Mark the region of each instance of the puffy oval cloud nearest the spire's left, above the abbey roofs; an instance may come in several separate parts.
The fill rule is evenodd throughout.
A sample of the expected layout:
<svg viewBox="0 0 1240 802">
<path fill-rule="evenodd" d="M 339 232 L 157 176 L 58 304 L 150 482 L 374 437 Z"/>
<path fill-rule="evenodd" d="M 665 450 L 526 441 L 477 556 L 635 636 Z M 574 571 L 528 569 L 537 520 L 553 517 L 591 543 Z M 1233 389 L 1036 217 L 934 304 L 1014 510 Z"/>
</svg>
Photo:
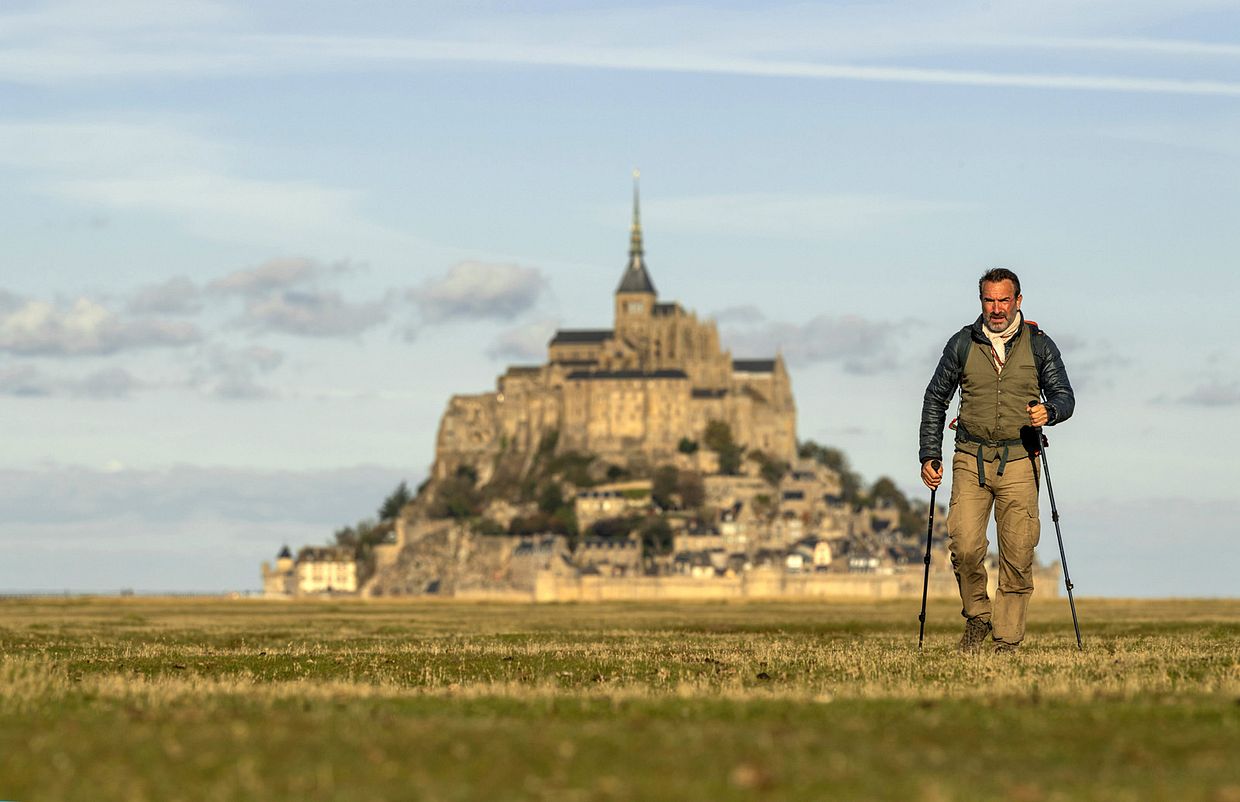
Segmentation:
<svg viewBox="0 0 1240 802">
<path fill-rule="evenodd" d="M 546 279 L 536 268 L 461 262 L 445 275 L 409 290 L 409 297 L 428 322 L 512 320 L 532 309 L 546 286 Z"/>
</svg>

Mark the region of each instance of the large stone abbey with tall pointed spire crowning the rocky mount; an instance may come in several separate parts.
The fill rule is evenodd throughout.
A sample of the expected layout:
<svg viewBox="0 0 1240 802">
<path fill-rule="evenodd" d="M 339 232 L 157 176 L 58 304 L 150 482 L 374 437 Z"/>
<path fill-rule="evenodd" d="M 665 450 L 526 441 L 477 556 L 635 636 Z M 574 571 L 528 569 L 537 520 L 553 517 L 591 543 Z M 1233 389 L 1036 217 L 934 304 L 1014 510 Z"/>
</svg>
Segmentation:
<svg viewBox="0 0 1240 802">
<path fill-rule="evenodd" d="M 510 367 L 491 393 L 455 395 L 439 426 L 434 477 L 469 466 L 480 483 L 520 476 L 539 446 L 590 452 L 618 464 L 683 462 L 682 440 L 707 424 L 789 462 L 796 459 L 796 405 L 780 355 L 735 359 L 714 321 L 660 301 L 646 268 L 634 187 L 629 260 L 611 328 L 560 330 L 547 361 Z M 693 457 L 706 465 L 713 454 Z"/>
</svg>

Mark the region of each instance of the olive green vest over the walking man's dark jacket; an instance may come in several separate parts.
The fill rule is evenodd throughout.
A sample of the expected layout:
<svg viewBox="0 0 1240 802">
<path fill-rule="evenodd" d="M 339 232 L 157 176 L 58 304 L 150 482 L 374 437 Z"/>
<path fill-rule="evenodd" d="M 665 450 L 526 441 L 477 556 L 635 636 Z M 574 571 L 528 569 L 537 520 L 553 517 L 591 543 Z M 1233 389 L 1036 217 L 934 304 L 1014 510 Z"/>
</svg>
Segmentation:
<svg viewBox="0 0 1240 802">
<path fill-rule="evenodd" d="M 1002 373 L 994 369 L 988 342 L 970 343 L 960 377 L 957 451 L 977 454 L 985 444 L 981 459 L 987 461 L 1001 459 L 1006 445 L 1021 452 L 1018 443 L 1021 429 L 1029 425 L 1029 402 L 1040 398 L 1033 331 L 1032 326 L 1022 325 L 1008 342 Z"/>
</svg>

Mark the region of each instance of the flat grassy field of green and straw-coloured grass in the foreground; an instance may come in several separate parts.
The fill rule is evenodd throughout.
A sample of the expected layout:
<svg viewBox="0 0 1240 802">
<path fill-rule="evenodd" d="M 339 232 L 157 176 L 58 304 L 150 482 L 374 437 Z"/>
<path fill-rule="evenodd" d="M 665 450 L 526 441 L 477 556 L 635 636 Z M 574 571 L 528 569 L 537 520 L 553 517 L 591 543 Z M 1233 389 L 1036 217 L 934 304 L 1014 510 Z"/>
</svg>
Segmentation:
<svg viewBox="0 0 1240 802">
<path fill-rule="evenodd" d="M 0 800 L 1240 802 L 1240 600 L 0 600 Z"/>
</svg>

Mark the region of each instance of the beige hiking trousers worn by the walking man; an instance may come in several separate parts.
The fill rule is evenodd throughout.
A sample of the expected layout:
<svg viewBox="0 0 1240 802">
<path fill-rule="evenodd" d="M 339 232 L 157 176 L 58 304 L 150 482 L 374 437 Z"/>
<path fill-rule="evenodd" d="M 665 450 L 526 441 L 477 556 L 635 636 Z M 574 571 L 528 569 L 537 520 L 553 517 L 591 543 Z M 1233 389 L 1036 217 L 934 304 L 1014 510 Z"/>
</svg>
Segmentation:
<svg viewBox="0 0 1240 802">
<path fill-rule="evenodd" d="M 998 475 L 999 462 L 986 462 L 986 485 L 977 485 L 977 459 L 957 451 L 951 459 L 951 507 L 947 511 L 947 544 L 960 584 L 961 614 L 990 620 L 996 641 L 1024 640 L 1024 614 L 1033 593 L 1033 549 L 1042 524 L 1038 521 L 1038 466 L 1021 452 Z M 998 528 L 999 578 L 994 605 L 986 593 L 986 528 L 991 507 Z"/>
</svg>

